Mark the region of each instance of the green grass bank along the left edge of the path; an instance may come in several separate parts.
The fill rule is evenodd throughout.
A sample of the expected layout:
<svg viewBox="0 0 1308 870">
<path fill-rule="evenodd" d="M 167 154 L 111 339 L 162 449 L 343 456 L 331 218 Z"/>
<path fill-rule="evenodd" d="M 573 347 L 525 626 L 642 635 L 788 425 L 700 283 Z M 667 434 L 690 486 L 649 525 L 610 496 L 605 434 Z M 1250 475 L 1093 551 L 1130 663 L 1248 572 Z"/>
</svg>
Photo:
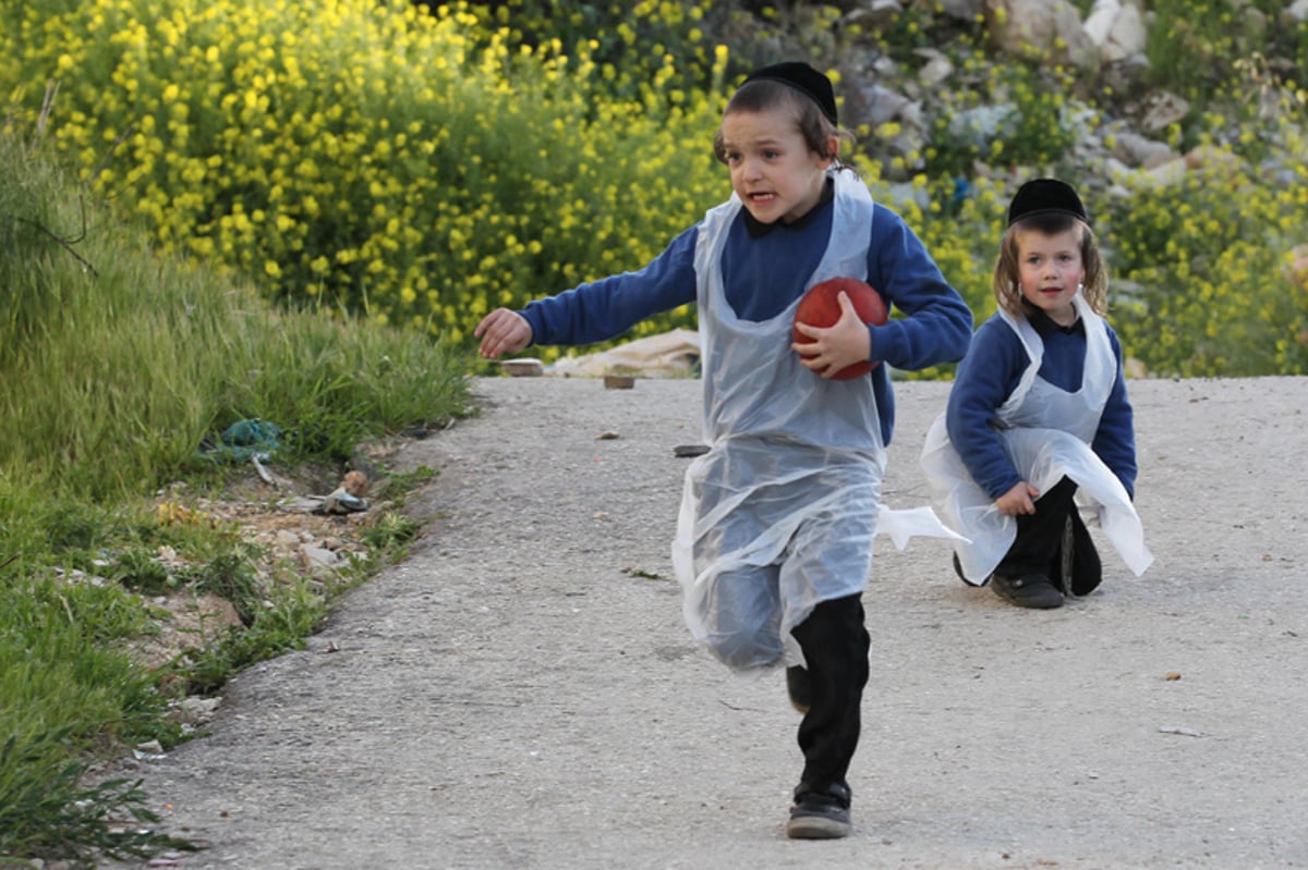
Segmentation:
<svg viewBox="0 0 1308 870">
<path fill-rule="evenodd" d="M 277 422 L 279 466 L 344 469 L 368 439 L 467 413 L 464 372 L 426 336 L 277 310 L 230 270 L 161 255 L 33 131 L 0 125 L 0 863 L 182 848 L 139 784 L 97 765 L 186 739 L 170 701 L 300 644 L 415 530 L 381 512 L 379 558 L 324 581 L 262 570 L 234 524 L 157 494 L 221 491 L 235 469 L 201 444 L 247 419 Z M 157 631 L 150 597 L 177 592 L 226 598 L 241 624 L 148 668 L 132 644 Z"/>
</svg>

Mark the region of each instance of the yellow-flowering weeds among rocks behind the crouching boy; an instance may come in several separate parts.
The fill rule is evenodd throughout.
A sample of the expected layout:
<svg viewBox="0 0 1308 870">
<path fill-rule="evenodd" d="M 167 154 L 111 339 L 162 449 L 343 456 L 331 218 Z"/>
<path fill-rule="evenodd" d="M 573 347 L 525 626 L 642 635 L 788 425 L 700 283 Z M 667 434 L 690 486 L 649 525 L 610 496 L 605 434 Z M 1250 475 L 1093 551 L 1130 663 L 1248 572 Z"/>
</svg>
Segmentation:
<svg viewBox="0 0 1308 870">
<path fill-rule="evenodd" d="M 1080 7 L 1087 13 L 1090 4 Z M 930 145 L 887 163 L 930 202 L 901 210 L 980 323 L 994 311 L 990 273 L 1011 195 L 997 182 L 1065 178 L 1096 216 L 1110 317 L 1133 371 L 1304 374 L 1305 71 L 1273 64 L 1258 50 L 1308 56 L 1308 25 L 1286 26 L 1283 4 L 1264 0 L 1206 0 L 1199 8 L 1169 0 L 1154 4 L 1154 13 L 1155 84 L 1197 101 L 1165 132 L 1194 163 L 1179 180 L 1148 172 L 1108 179 L 1110 185 L 1095 179 L 1075 152 L 1104 111 L 1087 102 L 1092 89 L 1045 57 L 997 63 L 981 48 L 982 31 L 957 22 L 947 42 L 934 43 L 961 74 L 935 95 Z M 912 63 L 923 14 L 914 7 L 895 16 L 887 30 L 895 38 L 883 34 L 878 46 Z M 1099 97 L 1109 102 L 1113 94 L 1104 89 Z M 871 153 L 880 132 L 865 133 Z"/>
</svg>

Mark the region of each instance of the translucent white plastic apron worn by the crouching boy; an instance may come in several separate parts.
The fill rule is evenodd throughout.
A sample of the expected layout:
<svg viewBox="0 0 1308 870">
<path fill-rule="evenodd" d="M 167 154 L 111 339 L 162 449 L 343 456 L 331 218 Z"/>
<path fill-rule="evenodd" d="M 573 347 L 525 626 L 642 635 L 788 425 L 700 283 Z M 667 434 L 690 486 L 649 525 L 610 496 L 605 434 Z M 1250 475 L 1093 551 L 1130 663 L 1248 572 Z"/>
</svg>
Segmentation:
<svg viewBox="0 0 1308 870">
<path fill-rule="evenodd" d="M 1045 492 L 1063 477 L 1076 483 L 1076 502 L 1135 576 L 1144 573 L 1154 556 L 1144 546 L 1144 530 L 1126 487 L 1091 449 L 1099 419 L 1113 388 L 1117 362 L 1104 319 L 1078 293 L 1073 299 L 1086 325 L 1086 364 L 1082 385 L 1074 393 L 1037 376 L 1044 342 L 1025 319 L 999 312 L 1022 340 L 1031 363 L 1018 387 L 998 409 L 999 442 L 1024 481 Z M 968 583 L 982 585 L 1016 538 L 1015 517 L 999 513 L 977 486 L 959 456 L 940 414 L 926 434 L 922 469 L 946 524 L 967 541 L 954 550 Z"/>
</svg>

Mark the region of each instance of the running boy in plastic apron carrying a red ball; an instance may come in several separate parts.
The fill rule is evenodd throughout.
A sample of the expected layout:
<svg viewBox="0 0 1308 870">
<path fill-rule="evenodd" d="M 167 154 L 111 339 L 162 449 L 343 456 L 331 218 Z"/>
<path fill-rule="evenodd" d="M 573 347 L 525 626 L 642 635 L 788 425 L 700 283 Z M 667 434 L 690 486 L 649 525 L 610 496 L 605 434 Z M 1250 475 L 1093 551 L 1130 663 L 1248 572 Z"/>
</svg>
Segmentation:
<svg viewBox="0 0 1308 870">
<path fill-rule="evenodd" d="M 972 332 L 918 238 L 840 165 L 846 136 L 827 76 L 804 63 L 755 71 L 714 138 L 727 202 L 644 269 L 500 308 L 475 330 L 494 358 L 612 338 L 697 303 L 710 449 L 687 469 L 674 542 L 685 619 L 734 670 L 790 666 L 804 765 L 786 831 L 810 839 L 850 831 L 846 772 L 869 673 L 861 598 L 895 419 L 887 368 L 956 361 Z M 869 282 L 904 316 L 869 327 L 842 297 L 836 325 L 803 325 L 811 342 L 793 344 L 799 297 L 837 276 Z M 831 379 L 858 361 L 886 364 Z"/>
</svg>

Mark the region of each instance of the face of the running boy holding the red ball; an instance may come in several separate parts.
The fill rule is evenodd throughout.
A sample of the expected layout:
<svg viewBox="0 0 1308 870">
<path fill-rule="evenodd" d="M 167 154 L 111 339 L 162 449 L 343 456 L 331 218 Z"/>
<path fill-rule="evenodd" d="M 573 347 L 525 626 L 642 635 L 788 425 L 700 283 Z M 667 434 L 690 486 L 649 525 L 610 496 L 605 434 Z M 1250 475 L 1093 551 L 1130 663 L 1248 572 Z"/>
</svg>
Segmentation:
<svg viewBox="0 0 1308 870">
<path fill-rule="evenodd" d="M 800 218 L 821 199 L 832 161 L 808 149 L 791 111 L 731 112 L 722 145 L 731 188 L 760 223 Z"/>
</svg>

